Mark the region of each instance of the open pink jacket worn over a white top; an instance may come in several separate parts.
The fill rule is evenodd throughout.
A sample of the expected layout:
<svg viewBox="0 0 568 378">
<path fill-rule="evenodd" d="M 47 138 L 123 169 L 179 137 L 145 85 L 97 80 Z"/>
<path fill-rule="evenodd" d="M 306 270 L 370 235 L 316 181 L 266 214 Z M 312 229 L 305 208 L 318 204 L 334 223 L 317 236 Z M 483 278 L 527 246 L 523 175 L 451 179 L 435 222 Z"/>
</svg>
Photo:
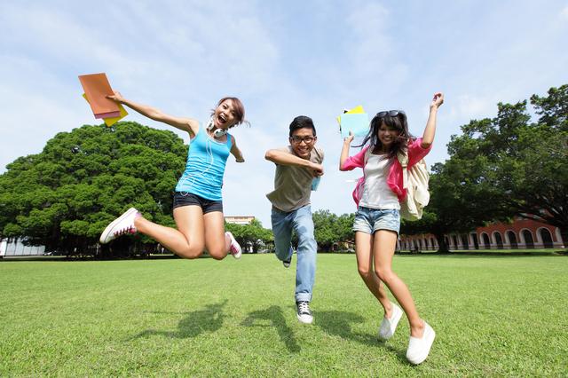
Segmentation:
<svg viewBox="0 0 568 378">
<path fill-rule="evenodd" d="M 347 158 L 346 161 L 343 162 L 342 169 L 345 170 L 352 170 L 354 168 L 363 168 L 365 165 L 365 153 L 369 147 L 363 148 L 359 151 L 358 154 L 350 156 Z M 424 156 L 430 153 L 432 146 L 430 145 L 428 148 L 422 148 L 422 138 L 416 138 L 414 141 L 408 144 L 408 169 L 416 164 L 418 161 L 421 161 Z M 355 191 L 353 191 L 353 200 L 355 203 L 359 204 L 359 198 L 357 195 L 357 191 L 359 185 L 364 182 L 365 177 L 360 177 L 359 181 L 357 182 L 357 186 L 355 187 Z M 406 189 L 402 186 L 402 166 L 400 165 L 400 161 L 395 159 L 392 164 L 390 164 L 389 170 L 389 177 L 387 177 L 387 185 L 389 185 L 392 192 L 397 194 L 398 201 L 404 201 L 406 199 Z"/>
</svg>

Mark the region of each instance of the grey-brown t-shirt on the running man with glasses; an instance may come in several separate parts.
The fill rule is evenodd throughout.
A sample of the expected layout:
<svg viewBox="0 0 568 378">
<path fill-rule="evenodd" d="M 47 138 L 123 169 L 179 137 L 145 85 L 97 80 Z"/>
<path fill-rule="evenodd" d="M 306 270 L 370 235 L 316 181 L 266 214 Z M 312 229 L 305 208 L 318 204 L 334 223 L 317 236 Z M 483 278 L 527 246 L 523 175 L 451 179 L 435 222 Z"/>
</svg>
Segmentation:
<svg viewBox="0 0 568 378">
<path fill-rule="evenodd" d="M 279 148 L 278 151 L 296 155 L 292 146 Z M 323 162 L 323 150 L 318 146 L 314 146 L 310 154 L 310 161 L 321 164 Z M 276 209 L 282 211 L 300 209 L 310 204 L 312 179 L 311 169 L 294 165 L 276 164 L 274 190 L 266 194 L 266 197 Z"/>
</svg>

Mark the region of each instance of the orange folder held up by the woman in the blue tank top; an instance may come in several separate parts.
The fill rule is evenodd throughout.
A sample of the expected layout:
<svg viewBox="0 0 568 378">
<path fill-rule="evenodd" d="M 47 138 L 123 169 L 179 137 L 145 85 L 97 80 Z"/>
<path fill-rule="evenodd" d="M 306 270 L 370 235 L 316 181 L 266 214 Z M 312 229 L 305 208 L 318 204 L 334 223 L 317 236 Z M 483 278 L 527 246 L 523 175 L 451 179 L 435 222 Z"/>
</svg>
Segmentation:
<svg viewBox="0 0 568 378">
<path fill-rule="evenodd" d="M 113 94 L 113 90 L 104 73 L 79 75 L 79 81 L 83 85 L 87 98 L 89 98 L 89 104 L 91 105 L 92 113 L 95 114 L 95 118 L 102 118 L 101 115 L 115 116 L 111 114 L 120 114 L 118 104 L 112 99 L 106 98 L 106 95 Z"/>
</svg>

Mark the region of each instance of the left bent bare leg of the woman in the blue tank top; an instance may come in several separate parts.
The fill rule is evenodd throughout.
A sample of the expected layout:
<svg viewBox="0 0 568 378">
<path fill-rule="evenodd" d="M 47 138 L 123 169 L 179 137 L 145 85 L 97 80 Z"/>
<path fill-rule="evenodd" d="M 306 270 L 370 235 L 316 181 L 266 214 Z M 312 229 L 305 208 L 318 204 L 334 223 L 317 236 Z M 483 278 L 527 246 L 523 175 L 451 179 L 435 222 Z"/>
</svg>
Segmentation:
<svg viewBox="0 0 568 378">
<path fill-rule="evenodd" d="M 138 217 L 134 225 L 138 232 L 144 233 L 170 249 L 177 256 L 195 258 L 203 253 L 203 212 L 199 206 L 182 206 L 174 209 L 175 228 L 150 222 Z"/>
</svg>

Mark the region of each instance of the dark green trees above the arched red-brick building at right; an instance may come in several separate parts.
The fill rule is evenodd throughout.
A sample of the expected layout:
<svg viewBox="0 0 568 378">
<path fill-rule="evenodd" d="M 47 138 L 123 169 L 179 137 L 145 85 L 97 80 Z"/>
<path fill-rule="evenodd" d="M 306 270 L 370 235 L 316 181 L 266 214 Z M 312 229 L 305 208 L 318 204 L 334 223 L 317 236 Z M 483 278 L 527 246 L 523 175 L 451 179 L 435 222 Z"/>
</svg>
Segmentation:
<svg viewBox="0 0 568 378">
<path fill-rule="evenodd" d="M 450 159 L 432 168 L 430 216 L 403 232 L 467 232 L 521 216 L 556 225 L 568 240 L 568 85 L 527 102 L 498 104 L 493 119 L 474 120 L 448 144 Z"/>
</svg>

